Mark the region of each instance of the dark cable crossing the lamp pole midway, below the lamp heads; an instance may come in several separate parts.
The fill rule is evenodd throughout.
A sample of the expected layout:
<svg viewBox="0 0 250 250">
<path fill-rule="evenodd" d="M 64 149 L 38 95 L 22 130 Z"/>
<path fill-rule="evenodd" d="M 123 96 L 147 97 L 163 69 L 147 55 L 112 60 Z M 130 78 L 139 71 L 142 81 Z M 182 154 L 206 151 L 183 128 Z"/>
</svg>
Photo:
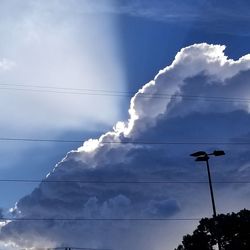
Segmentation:
<svg viewBox="0 0 250 250">
<path fill-rule="evenodd" d="M 82 184 L 207 184 L 208 181 L 91 181 L 91 180 L 32 180 L 32 179 L 0 179 L 0 182 L 23 183 L 82 183 Z M 250 181 L 213 181 L 213 184 L 250 184 Z"/>
</svg>

